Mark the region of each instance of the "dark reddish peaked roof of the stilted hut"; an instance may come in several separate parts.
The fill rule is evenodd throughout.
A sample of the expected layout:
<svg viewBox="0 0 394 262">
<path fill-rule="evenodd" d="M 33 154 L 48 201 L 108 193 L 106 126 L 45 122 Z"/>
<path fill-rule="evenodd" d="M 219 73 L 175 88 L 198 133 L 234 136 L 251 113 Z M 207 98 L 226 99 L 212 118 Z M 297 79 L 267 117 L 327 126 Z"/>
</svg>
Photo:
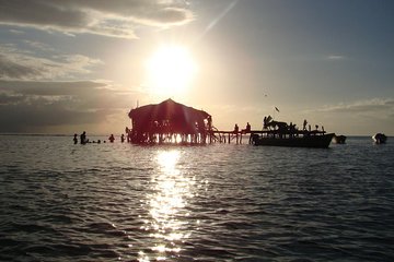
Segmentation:
<svg viewBox="0 0 394 262">
<path fill-rule="evenodd" d="M 204 121 L 204 119 L 210 117 L 210 115 L 204 110 L 197 110 L 193 107 L 185 106 L 171 98 L 160 104 L 152 104 L 131 109 L 128 116 L 136 122 L 161 122 L 169 120 L 186 123 Z"/>
</svg>

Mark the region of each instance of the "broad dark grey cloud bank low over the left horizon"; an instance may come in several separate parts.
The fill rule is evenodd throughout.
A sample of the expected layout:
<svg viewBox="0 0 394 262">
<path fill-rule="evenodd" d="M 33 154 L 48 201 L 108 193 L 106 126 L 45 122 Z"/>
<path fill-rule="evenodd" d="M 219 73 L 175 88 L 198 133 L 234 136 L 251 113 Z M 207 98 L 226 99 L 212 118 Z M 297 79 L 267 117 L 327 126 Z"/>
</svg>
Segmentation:
<svg viewBox="0 0 394 262">
<path fill-rule="evenodd" d="M 134 96 L 102 82 L 0 81 L 0 132 L 100 124 L 113 116 L 127 122 Z"/>
</svg>

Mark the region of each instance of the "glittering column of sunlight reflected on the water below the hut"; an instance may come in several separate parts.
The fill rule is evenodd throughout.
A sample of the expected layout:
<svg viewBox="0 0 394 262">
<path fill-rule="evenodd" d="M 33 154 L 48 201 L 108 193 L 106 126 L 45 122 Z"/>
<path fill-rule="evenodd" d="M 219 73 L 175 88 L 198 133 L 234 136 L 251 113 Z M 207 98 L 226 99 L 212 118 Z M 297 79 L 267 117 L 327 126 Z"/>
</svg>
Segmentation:
<svg viewBox="0 0 394 262">
<path fill-rule="evenodd" d="M 152 257 L 140 252 L 139 261 L 166 260 L 176 257 L 182 242 L 189 237 L 187 200 L 193 198 L 195 181 L 179 169 L 181 152 L 160 151 L 158 172 L 152 177 L 152 192 L 148 195 L 149 217 L 143 229 L 152 238 Z"/>
</svg>

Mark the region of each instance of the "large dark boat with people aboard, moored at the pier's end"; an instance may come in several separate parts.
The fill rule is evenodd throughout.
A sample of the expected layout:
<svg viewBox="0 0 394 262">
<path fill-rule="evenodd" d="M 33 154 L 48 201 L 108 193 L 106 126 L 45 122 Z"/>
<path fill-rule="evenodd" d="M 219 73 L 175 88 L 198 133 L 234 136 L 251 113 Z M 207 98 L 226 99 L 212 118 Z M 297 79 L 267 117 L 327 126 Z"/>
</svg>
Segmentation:
<svg viewBox="0 0 394 262">
<path fill-rule="evenodd" d="M 303 130 L 298 130 L 296 124 L 274 121 L 269 116 L 264 118 L 263 131 L 252 131 L 250 143 L 254 145 L 291 146 L 327 148 L 335 133 L 323 130 L 306 130 L 306 120 Z"/>
</svg>

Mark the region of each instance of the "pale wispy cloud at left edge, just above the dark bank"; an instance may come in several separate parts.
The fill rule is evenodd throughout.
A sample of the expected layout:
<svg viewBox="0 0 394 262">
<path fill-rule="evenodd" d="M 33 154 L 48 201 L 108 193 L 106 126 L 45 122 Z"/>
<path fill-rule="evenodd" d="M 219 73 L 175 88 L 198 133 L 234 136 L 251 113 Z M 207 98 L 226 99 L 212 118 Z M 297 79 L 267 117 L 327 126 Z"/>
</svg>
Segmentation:
<svg viewBox="0 0 394 262">
<path fill-rule="evenodd" d="M 44 48 L 38 43 L 28 43 Z M 54 55 L 36 57 L 13 46 L 0 46 L 1 80 L 53 80 L 90 73 L 90 68 L 102 64 L 99 59 L 82 55 Z"/>
</svg>

